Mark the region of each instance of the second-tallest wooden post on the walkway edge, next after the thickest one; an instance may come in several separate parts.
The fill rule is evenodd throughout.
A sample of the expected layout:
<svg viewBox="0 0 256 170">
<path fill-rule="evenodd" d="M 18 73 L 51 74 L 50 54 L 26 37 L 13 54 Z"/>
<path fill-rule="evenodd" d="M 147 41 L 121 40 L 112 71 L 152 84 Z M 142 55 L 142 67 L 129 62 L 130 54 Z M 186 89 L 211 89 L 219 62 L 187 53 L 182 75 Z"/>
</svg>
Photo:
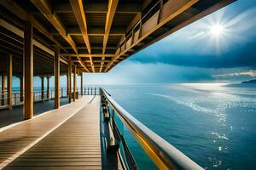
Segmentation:
<svg viewBox="0 0 256 170">
<path fill-rule="evenodd" d="M 55 48 L 55 109 L 60 108 L 60 48 Z"/>
</svg>

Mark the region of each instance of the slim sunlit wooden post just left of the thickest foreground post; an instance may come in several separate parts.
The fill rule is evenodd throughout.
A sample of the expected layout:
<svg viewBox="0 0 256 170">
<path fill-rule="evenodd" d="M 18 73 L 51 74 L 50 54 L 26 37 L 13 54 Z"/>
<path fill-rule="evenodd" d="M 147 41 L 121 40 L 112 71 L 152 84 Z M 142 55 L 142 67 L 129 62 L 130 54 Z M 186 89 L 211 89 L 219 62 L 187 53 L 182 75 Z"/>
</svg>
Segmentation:
<svg viewBox="0 0 256 170">
<path fill-rule="evenodd" d="M 13 55 L 9 54 L 9 67 L 8 67 L 8 105 L 9 110 L 13 107 Z"/>
</svg>

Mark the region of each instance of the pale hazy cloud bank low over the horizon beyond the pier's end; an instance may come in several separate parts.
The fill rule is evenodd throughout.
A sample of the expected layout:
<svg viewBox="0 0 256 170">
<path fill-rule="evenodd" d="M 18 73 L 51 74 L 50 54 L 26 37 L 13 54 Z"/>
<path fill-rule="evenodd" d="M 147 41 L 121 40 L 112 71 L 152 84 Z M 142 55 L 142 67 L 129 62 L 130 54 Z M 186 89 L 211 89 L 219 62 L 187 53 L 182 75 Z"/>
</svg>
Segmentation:
<svg viewBox="0 0 256 170">
<path fill-rule="evenodd" d="M 127 84 L 209 82 L 214 81 L 214 77 L 202 68 L 125 61 L 108 73 L 84 74 L 84 80 L 90 84 Z"/>
</svg>

